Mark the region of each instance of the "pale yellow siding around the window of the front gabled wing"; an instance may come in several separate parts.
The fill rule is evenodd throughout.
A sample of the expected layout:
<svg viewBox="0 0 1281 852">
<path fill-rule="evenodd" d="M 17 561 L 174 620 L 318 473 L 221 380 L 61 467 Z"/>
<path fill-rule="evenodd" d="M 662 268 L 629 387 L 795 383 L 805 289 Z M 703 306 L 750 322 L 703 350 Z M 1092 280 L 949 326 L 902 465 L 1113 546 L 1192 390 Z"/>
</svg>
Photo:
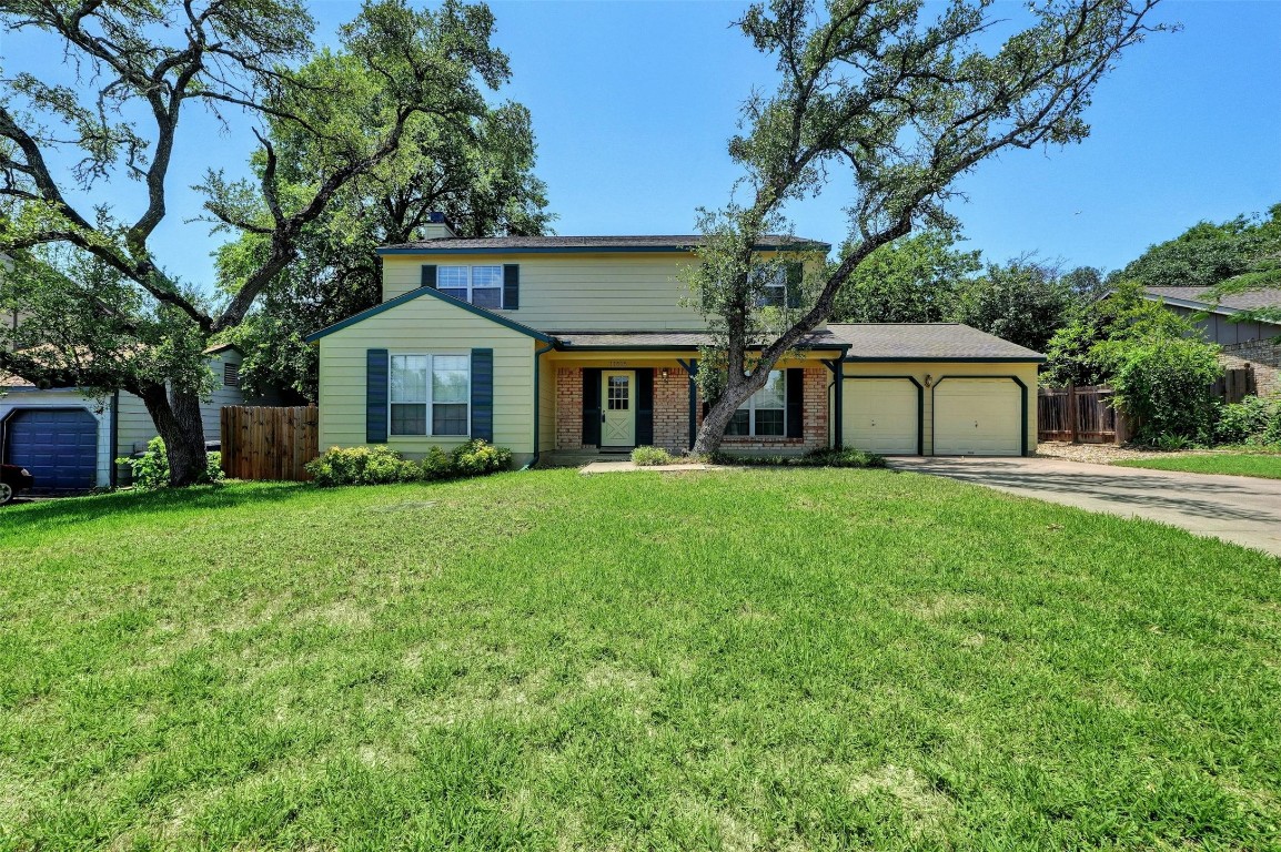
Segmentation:
<svg viewBox="0 0 1281 852">
<path fill-rule="evenodd" d="M 518 463 L 533 454 L 534 347 L 520 333 L 456 304 L 423 296 L 320 339 L 320 446 L 365 443 L 365 357 L 368 349 L 397 353 L 470 354 L 493 349 L 493 440 Z M 462 438 L 392 436 L 388 446 L 410 458 L 430 446 L 446 449 Z"/>
</svg>

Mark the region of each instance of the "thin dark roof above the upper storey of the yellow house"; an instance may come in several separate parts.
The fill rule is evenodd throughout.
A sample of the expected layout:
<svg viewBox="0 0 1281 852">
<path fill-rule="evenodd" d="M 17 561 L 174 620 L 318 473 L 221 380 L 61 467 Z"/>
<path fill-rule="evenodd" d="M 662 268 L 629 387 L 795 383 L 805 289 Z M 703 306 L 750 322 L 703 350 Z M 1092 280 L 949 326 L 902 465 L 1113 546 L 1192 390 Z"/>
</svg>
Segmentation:
<svg viewBox="0 0 1281 852">
<path fill-rule="evenodd" d="M 441 237 L 412 243 L 383 246 L 379 255 L 556 255 L 615 252 L 684 252 L 703 243 L 701 234 L 619 235 L 619 237 Z M 758 251 L 822 251 L 831 246 L 817 239 L 769 234 L 757 243 Z"/>
</svg>

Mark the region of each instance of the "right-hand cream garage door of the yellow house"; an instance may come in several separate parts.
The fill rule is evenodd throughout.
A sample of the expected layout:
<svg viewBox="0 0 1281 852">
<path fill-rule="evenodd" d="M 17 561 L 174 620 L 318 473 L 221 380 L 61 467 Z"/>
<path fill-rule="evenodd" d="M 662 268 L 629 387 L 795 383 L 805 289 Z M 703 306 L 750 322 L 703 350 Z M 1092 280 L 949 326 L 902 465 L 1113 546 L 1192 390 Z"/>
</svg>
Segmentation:
<svg viewBox="0 0 1281 852">
<path fill-rule="evenodd" d="M 934 386 L 935 455 L 1021 455 L 1022 389 L 1009 379 L 944 379 Z"/>
</svg>

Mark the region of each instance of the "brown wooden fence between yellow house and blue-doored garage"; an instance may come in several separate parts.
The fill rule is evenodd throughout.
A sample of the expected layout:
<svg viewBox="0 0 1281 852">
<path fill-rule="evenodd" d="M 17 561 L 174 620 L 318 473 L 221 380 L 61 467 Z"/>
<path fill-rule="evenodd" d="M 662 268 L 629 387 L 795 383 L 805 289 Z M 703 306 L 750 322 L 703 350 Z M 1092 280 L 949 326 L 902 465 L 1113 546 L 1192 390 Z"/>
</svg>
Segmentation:
<svg viewBox="0 0 1281 852">
<path fill-rule="evenodd" d="M 224 406 L 223 473 L 236 480 L 310 480 L 302 467 L 320 454 L 315 406 Z"/>
</svg>

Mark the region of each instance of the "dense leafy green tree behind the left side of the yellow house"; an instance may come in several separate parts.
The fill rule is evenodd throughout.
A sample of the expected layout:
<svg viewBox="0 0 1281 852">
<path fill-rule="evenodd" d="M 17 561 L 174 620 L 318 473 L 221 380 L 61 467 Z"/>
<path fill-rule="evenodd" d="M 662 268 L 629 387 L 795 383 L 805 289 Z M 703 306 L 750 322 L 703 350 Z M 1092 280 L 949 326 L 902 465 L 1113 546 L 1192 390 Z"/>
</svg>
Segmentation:
<svg viewBox="0 0 1281 852">
<path fill-rule="evenodd" d="M 302 69 L 328 65 L 324 55 Z M 365 72 L 343 63 L 343 74 Z M 369 102 L 388 97 L 384 81 L 368 75 Z M 365 118 L 378 127 L 379 118 Z M 305 187 L 325 169 L 327 151 L 288 122 L 268 116 L 278 179 Z M 241 381 L 249 390 L 292 388 L 316 398 L 316 353 L 304 338 L 382 301 L 375 249 L 424 237 L 428 215 L 443 212 L 465 237 L 542 234 L 546 185 L 534 175 L 535 141 L 529 110 L 505 102 L 474 116 L 420 114 L 405 127 L 395 155 L 347 183 L 296 242 L 297 258 L 264 292 L 257 308 L 231 338 L 245 353 Z M 263 164 L 255 164 L 261 169 Z M 219 285 L 234 293 L 263 262 L 268 241 L 245 233 L 218 253 Z"/>
</svg>

